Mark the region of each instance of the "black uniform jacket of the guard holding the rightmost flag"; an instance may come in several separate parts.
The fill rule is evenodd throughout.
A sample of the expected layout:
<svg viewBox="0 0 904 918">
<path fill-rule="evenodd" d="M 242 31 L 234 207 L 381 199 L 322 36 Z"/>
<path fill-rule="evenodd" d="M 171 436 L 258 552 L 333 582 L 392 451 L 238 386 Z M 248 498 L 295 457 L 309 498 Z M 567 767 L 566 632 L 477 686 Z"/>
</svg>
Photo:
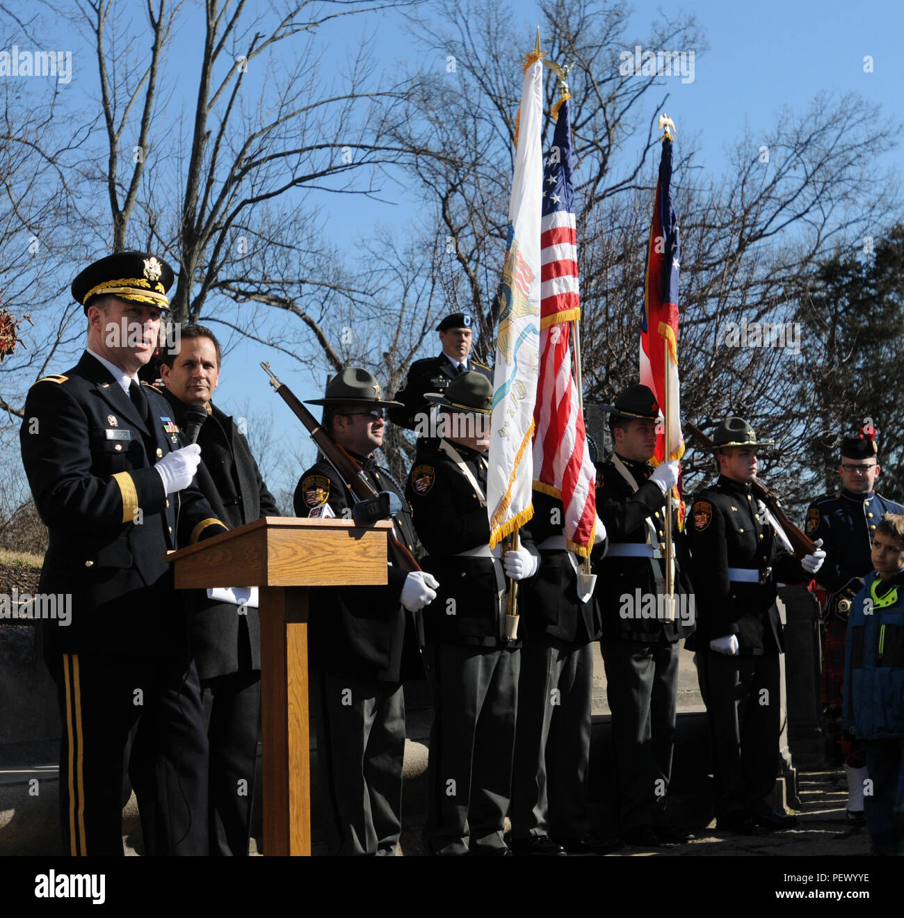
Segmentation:
<svg viewBox="0 0 904 918">
<path fill-rule="evenodd" d="M 597 515 L 606 526 L 609 552 L 618 552 L 617 545 L 649 545 L 656 555 L 664 552 L 665 495 L 653 481 L 648 481 L 653 472 L 649 463 L 619 461 L 634 479 L 637 490 L 619 472 L 612 459 L 597 464 Z M 684 533 L 678 532 L 677 514 L 672 517 L 672 537 L 675 546 L 675 596 L 692 594 L 690 578 L 690 554 Z M 686 637 L 694 631 L 692 621 L 682 620 L 675 614 L 675 621 L 660 621 L 655 618 L 622 617 L 623 597 L 631 597 L 631 609 L 636 605 L 636 590 L 641 596 L 657 596 L 662 593 L 665 571 L 661 557 L 632 557 L 631 555 L 607 554 L 597 549 L 593 557 L 597 574 L 597 599 L 602 610 L 604 641 L 640 641 L 653 644 L 658 641 L 669 643 Z M 655 565 L 655 568 L 653 567 Z M 660 581 L 657 586 L 657 580 Z M 676 599 L 676 605 L 681 600 Z M 657 604 L 657 612 L 659 605 Z"/>
</svg>

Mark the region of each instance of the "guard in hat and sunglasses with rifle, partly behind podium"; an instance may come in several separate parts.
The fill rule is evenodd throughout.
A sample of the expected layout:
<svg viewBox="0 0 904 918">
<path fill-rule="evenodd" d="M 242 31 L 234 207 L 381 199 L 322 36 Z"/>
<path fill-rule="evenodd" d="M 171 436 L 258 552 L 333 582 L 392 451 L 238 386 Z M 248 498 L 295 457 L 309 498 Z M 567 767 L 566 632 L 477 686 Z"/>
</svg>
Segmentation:
<svg viewBox="0 0 904 918">
<path fill-rule="evenodd" d="M 350 366 L 329 380 L 326 397 L 307 404 L 324 406 L 324 430 L 361 465 L 374 490 L 393 496 L 396 533 L 410 551 L 414 530 L 402 488 L 374 461 L 383 444 L 383 413 L 396 403 L 384 399 L 374 376 Z M 325 458 L 307 469 L 296 487 L 299 517 L 351 520 L 354 502 Z M 385 587 L 310 592 L 311 710 L 333 855 L 395 855 L 401 832 L 402 680 L 423 676 L 406 610 L 418 611 L 434 599 L 437 583 L 422 571 L 406 575 L 393 565 L 387 577 Z"/>
</svg>

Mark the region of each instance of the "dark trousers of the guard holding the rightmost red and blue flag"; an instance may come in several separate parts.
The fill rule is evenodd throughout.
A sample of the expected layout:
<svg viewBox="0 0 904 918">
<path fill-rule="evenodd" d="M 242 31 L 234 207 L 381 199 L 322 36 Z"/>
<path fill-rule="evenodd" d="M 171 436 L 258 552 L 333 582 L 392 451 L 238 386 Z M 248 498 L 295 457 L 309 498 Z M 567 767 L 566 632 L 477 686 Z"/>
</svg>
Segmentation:
<svg viewBox="0 0 904 918">
<path fill-rule="evenodd" d="M 602 641 L 619 826 L 652 826 L 672 778 L 678 643 Z"/>
</svg>

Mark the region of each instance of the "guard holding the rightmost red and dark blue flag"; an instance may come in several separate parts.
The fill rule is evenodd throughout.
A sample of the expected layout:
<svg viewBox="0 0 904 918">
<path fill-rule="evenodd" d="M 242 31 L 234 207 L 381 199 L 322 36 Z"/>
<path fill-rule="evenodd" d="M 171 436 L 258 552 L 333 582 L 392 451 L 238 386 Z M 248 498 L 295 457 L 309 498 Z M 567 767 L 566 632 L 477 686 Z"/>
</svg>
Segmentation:
<svg viewBox="0 0 904 918">
<path fill-rule="evenodd" d="M 597 513 L 609 545 L 596 568 L 619 834 L 629 845 L 680 844 L 693 836 L 666 820 L 664 798 L 675 749 L 679 641 L 694 631 L 690 559 L 675 510 L 674 610 L 663 600 L 666 494 L 677 484 L 678 464 L 650 465 L 661 413 L 647 386 L 631 386 L 605 408 L 613 453 L 597 465 Z"/>
</svg>

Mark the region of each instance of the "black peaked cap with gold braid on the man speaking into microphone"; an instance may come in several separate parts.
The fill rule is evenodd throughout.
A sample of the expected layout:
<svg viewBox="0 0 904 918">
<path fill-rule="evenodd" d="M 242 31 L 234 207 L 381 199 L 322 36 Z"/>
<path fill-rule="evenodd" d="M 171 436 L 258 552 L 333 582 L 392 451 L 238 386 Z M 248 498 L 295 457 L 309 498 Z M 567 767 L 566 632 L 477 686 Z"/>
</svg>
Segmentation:
<svg viewBox="0 0 904 918">
<path fill-rule="evenodd" d="M 73 280 L 73 299 L 88 307 L 98 297 L 116 297 L 169 309 L 166 291 L 173 286 L 173 269 L 150 252 L 115 252 L 89 264 Z"/>
</svg>

